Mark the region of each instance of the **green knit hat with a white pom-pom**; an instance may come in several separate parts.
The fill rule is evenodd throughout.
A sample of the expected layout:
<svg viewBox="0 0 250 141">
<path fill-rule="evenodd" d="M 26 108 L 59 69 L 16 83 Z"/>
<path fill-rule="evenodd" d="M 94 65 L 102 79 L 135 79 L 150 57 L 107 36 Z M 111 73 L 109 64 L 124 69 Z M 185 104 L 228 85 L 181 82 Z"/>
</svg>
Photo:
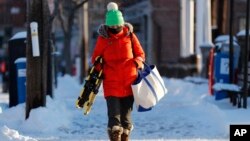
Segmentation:
<svg viewBox="0 0 250 141">
<path fill-rule="evenodd" d="M 110 2 L 107 5 L 106 21 L 107 26 L 123 25 L 124 19 L 122 12 L 118 10 L 118 6 L 114 2 Z"/>
</svg>

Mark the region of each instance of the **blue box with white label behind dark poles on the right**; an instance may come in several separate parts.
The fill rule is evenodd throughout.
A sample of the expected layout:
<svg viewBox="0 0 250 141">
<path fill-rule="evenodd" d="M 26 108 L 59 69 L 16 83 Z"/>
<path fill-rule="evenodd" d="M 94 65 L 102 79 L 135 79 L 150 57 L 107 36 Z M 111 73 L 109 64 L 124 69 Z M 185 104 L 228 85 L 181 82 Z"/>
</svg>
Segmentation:
<svg viewBox="0 0 250 141">
<path fill-rule="evenodd" d="M 217 43 L 215 45 L 214 55 L 214 80 L 215 83 L 230 83 L 229 76 L 229 42 Z M 240 54 L 240 46 L 237 42 L 233 43 L 234 58 L 233 58 L 233 74 L 235 75 L 238 68 L 238 60 Z M 226 91 L 214 91 L 215 99 L 221 100 L 228 97 Z"/>
</svg>

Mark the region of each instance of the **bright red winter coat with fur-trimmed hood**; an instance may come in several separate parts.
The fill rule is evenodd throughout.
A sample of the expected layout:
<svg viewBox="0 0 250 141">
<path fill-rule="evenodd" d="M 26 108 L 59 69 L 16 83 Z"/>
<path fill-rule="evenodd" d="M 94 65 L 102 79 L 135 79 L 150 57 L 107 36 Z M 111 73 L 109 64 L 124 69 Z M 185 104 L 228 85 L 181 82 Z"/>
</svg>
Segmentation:
<svg viewBox="0 0 250 141">
<path fill-rule="evenodd" d="M 137 69 L 145 60 L 144 51 L 133 27 L 125 23 L 118 34 L 108 32 L 105 25 L 98 29 L 99 37 L 92 55 L 92 63 L 97 56 L 102 56 L 104 96 L 126 97 L 132 95 L 131 84 L 137 77 Z M 133 49 L 131 37 L 133 40 Z"/>
</svg>

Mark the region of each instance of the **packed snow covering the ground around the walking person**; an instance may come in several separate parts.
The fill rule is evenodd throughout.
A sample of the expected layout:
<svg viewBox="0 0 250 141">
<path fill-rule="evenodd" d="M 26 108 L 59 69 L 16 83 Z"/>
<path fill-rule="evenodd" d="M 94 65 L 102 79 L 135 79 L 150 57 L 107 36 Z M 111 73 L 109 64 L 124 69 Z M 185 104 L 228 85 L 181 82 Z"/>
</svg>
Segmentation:
<svg viewBox="0 0 250 141">
<path fill-rule="evenodd" d="M 231 124 L 250 124 L 250 109 L 233 106 L 229 99 L 215 100 L 208 94 L 206 79 L 164 77 L 164 81 L 168 93 L 151 111 L 134 108 L 131 140 L 227 141 Z M 46 107 L 33 109 L 27 120 L 24 103 L 9 108 L 8 94 L 0 94 L 0 140 L 108 140 L 102 88 L 86 116 L 75 107 L 81 87 L 75 77 L 59 77 L 54 97 L 47 96 Z"/>
</svg>

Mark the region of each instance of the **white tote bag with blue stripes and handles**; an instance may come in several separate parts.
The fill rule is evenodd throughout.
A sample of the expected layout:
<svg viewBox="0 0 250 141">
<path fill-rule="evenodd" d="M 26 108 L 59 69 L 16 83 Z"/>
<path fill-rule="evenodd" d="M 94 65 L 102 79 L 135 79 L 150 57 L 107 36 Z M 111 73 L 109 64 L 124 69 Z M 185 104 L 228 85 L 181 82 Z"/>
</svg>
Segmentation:
<svg viewBox="0 0 250 141">
<path fill-rule="evenodd" d="M 138 77 L 132 84 L 137 111 L 149 111 L 167 93 L 167 88 L 155 65 L 147 65 L 138 71 Z"/>
</svg>

